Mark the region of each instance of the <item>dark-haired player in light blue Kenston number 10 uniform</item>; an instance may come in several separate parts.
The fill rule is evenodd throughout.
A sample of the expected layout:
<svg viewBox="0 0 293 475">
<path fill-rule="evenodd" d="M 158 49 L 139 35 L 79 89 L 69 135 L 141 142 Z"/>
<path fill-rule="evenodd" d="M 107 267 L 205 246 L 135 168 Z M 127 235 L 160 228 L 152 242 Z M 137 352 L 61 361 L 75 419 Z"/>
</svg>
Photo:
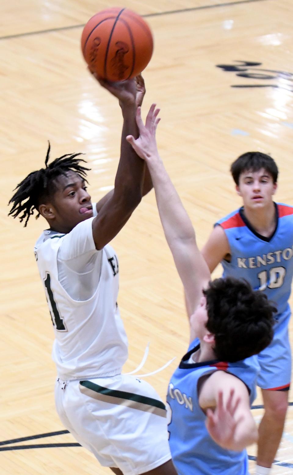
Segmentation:
<svg viewBox="0 0 293 475">
<path fill-rule="evenodd" d="M 243 207 L 217 221 L 202 250 L 210 272 L 221 262 L 223 277 L 246 279 L 276 304 L 273 342 L 258 355 L 265 415 L 259 426 L 256 473 L 269 473 L 288 405 L 291 349 L 288 299 L 293 278 L 293 207 L 274 203 L 278 169 L 261 152 L 248 152 L 231 172 Z M 263 468 L 267 470 L 264 471 Z"/>
</svg>

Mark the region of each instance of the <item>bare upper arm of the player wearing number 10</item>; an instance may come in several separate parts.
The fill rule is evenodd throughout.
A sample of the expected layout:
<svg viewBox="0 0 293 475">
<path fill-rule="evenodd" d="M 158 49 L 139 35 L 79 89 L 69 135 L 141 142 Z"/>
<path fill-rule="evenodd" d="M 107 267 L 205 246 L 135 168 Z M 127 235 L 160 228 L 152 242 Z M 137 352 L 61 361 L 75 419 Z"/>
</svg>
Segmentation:
<svg viewBox="0 0 293 475">
<path fill-rule="evenodd" d="M 204 247 L 201 250 L 203 257 L 210 273 L 212 273 L 217 265 L 230 254 L 230 246 L 224 229 L 221 226 L 216 226 Z"/>
</svg>

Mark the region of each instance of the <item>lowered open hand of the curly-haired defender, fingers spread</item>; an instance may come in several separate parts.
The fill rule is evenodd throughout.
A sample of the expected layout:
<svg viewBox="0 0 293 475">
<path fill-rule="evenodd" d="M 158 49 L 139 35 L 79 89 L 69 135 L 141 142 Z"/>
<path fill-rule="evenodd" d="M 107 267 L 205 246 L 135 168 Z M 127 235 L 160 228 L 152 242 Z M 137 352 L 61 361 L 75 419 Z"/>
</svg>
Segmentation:
<svg viewBox="0 0 293 475">
<path fill-rule="evenodd" d="M 207 410 L 206 426 L 209 435 L 220 447 L 226 449 L 233 447 L 236 428 L 243 419 L 242 416 L 238 419 L 235 417 L 239 402 L 240 398 L 235 400 L 234 389 L 232 389 L 225 406 L 223 404 L 223 392 L 219 391 L 215 411 Z"/>
</svg>

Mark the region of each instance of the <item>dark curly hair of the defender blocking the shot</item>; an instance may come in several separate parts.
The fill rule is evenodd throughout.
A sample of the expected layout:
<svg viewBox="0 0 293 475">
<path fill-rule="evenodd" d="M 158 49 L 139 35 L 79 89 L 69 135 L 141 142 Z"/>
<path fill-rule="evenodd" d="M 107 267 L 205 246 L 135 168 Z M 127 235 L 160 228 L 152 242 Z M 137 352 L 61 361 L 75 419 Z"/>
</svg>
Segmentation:
<svg viewBox="0 0 293 475">
<path fill-rule="evenodd" d="M 215 335 L 217 359 L 244 360 L 264 350 L 272 341 L 273 314 L 277 309 L 246 280 L 215 279 L 203 293 L 207 299 L 206 327 Z"/>
</svg>

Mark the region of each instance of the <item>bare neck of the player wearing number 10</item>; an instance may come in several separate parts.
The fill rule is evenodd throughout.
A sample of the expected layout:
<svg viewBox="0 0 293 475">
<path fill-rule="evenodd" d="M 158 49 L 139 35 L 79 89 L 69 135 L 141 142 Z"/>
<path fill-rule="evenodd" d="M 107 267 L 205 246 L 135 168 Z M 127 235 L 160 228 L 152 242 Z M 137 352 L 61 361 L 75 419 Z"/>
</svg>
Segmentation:
<svg viewBox="0 0 293 475">
<path fill-rule="evenodd" d="M 261 209 L 244 207 L 244 215 L 252 228 L 261 236 L 270 237 L 273 234 L 276 226 L 274 201 Z"/>
</svg>

